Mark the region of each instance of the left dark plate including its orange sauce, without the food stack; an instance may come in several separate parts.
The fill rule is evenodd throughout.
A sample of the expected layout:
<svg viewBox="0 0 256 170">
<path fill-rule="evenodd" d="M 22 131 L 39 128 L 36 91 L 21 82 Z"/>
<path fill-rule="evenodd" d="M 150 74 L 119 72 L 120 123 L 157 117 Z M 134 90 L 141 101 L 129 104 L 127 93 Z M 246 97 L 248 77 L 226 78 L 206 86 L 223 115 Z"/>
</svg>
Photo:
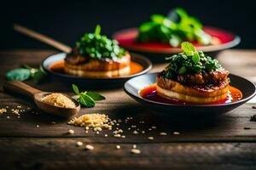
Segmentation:
<svg viewBox="0 0 256 170">
<path fill-rule="evenodd" d="M 122 86 L 131 77 L 143 75 L 151 70 L 149 59 L 139 54 L 131 53 L 131 73 L 121 77 L 78 77 L 69 75 L 64 71 L 66 53 L 53 54 L 44 59 L 42 66 L 49 76 L 65 83 L 76 83 L 81 87 L 112 88 Z"/>
</svg>

